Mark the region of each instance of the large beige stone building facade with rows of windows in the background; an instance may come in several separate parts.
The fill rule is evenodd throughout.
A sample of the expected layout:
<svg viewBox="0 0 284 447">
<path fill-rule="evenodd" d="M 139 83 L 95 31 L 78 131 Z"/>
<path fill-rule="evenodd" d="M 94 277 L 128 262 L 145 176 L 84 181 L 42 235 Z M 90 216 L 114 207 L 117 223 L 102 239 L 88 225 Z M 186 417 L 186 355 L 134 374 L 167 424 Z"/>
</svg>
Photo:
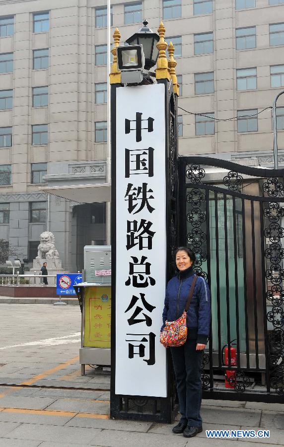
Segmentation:
<svg viewBox="0 0 284 447">
<path fill-rule="evenodd" d="M 146 18 L 152 30 L 163 20 L 175 46 L 179 153 L 272 166 L 284 0 L 111 3 L 122 44 Z M 106 243 L 106 25 L 105 0 L 0 0 L 0 239 L 29 262 L 47 229 L 69 271 L 82 268 L 84 245 Z M 278 106 L 282 166 L 284 99 Z M 71 187 L 69 200 L 48 185 Z M 96 185 L 91 200 L 72 194 L 82 185 Z"/>
</svg>

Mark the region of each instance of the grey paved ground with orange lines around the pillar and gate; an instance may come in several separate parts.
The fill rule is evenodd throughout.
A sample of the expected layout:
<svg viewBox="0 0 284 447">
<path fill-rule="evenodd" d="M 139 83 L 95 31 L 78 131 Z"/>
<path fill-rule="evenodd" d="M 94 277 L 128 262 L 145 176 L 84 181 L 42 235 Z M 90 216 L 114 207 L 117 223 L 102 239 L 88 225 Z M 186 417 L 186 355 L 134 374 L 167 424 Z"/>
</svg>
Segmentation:
<svg viewBox="0 0 284 447">
<path fill-rule="evenodd" d="M 0 447 L 284 445 L 281 404 L 204 400 L 204 430 L 191 440 L 171 433 L 176 421 L 110 420 L 109 373 L 88 367 L 80 376 L 78 307 L 0 304 L 0 321 Z M 220 429 L 270 438 L 206 437 Z"/>
</svg>

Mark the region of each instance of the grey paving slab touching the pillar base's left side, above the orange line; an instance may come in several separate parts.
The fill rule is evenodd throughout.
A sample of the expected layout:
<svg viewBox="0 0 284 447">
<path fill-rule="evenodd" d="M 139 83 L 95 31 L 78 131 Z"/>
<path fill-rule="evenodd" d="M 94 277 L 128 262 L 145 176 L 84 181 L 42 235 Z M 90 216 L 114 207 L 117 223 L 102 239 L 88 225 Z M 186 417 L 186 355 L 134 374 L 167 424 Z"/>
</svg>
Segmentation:
<svg viewBox="0 0 284 447">
<path fill-rule="evenodd" d="M 58 399 L 49 410 L 74 411 L 79 413 L 109 414 L 110 404 L 87 399 Z"/>
</svg>

